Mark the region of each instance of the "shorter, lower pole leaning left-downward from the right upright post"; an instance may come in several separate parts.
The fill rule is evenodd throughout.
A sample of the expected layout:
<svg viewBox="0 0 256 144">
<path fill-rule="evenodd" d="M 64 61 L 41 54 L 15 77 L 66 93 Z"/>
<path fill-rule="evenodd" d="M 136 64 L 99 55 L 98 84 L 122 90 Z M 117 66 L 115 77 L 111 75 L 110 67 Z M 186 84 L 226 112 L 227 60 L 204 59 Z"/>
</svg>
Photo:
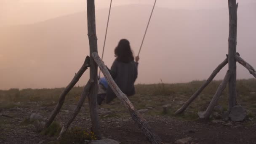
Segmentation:
<svg viewBox="0 0 256 144">
<path fill-rule="evenodd" d="M 201 113 L 203 115 L 199 115 L 200 118 L 204 118 L 204 119 L 208 119 L 211 115 L 211 113 L 213 112 L 214 106 L 216 106 L 219 97 L 221 96 L 221 93 L 224 91 L 224 89 L 226 88 L 227 83 L 229 82 L 229 78 L 230 78 L 230 72 L 229 70 L 227 70 L 227 73 L 224 77 L 224 80 L 222 80 L 221 84 L 219 85 L 216 93 L 213 96 L 213 99 L 211 100 L 209 106 L 207 107 L 207 109 L 205 110 L 205 112 Z"/>
</svg>

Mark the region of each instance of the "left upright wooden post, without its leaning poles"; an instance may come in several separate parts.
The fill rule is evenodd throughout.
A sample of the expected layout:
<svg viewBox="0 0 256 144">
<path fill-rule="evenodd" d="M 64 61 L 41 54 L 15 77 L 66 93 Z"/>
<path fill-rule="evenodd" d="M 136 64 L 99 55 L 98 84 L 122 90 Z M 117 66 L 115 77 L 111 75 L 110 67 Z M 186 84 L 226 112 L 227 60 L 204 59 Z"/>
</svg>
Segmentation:
<svg viewBox="0 0 256 144">
<path fill-rule="evenodd" d="M 98 93 L 98 67 L 91 54 L 98 52 L 97 36 L 96 36 L 96 22 L 95 22 L 95 4 L 94 0 L 87 0 L 87 24 L 88 24 L 88 39 L 90 45 L 90 79 L 93 80 L 91 85 L 90 94 L 88 96 L 92 131 L 97 136 L 97 139 L 101 139 L 100 123 L 97 108 L 97 93 Z"/>
</svg>

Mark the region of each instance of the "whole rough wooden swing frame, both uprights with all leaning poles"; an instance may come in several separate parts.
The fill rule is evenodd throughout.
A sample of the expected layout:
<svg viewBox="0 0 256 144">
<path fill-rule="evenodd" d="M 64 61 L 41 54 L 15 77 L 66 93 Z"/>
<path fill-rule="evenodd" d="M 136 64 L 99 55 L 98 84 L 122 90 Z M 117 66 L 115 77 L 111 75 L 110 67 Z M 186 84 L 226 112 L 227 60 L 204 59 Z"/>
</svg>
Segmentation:
<svg viewBox="0 0 256 144">
<path fill-rule="evenodd" d="M 176 111 L 176 114 L 181 114 L 184 110 L 189 106 L 189 104 L 194 101 L 197 96 L 203 91 L 203 89 L 211 83 L 213 78 L 218 74 L 218 72 L 226 65 L 229 65 L 229 70 L 224 77 L 224 80 L 219 85 L 215 95 L 211 103 L 209 104 L 208 108 L 205 112 L 199 113 L 200 118 L 207 119 L 212 111 L 214 106 L 217 104 L 219 96 L 221 95 L 222 91 L 226 87 L 227 83 L 229 83 L 229 112 L 231 111 L 232 107 L 236 104 L 236 61 L 242 64 L 245 68 L 249 70 L 249 72 L 256 77 L 255 69 L 248 64 L 245 60 L 243 60 L 239 53 L 236 53 L 236 44 L 237 44 L 237 7 L 238 3 L 236 0 L 228 0 L 229 5 L 229 53 L 227 58 L 219 64 L 219 66 L 212 72 L 210 77 L 203 83 L 203 85 L 191 96 L 191 98 L 180 108 Z M 97 83 L 97 66 L 101 69 L 102 73 L 107 79 L 109 86 L 112 88 L 114 93 L 116 94 L 117 98 L 122 101 L 125 107 L 131 114 L 132 119 L 136 122 L 138 127 L 141 131 L 145 134 L 148 140 L 152 144 L 164 144 L 164 142 L 160 139 L 157 134 L 152 130 L 149 126 L 147 121 L 137 112 L 131 101 L 128 97 L 118 88 L 115 81 L 112 79 L 107 67 L 104 65 L 104 62 L 100 59 L 97 51 L 97 36 L 96 36 L 96 21 L 95 21 L 95 5 L 94 0 L 87 0 L 87 20 L 88 20 L 88 39 L 90 45 L 90 57 L 87 56 L 85 59 L 84 64 L 77 72 L 75 77 L 69 83 L 69 85 L 64 89 L 61 93 L 59 102 L 56 107 L 51 112 L 51 115 L 45 120 L 45 128 L 48 128 L 53 120 L 55 119 L 56 115 L 59 113 L 62 105 L 64 104 L 65 96 L 67 93 L 74 87 L 80 77 L 83 75 L 85 70 L 90 67 L 90 80 L 85 85 L 83 93 L 81 94 L 80 100 L 77 103 L 77 107 L 74 109 L 72 115 L 69 117 L 67 122 L 63 125 L 61 132 L 59 134 L 58 139 L 61 138 L 63 133 L 67 131 L 69 125 L 75 119 L 77 114 L 80 112 L 81 107 L 85 101 L 86 96 L 88 96 L 89 107 L 90 107 L 90 114 L 91 114 L 91 122 L 92 128 L 91 130 L 96 134 L 97 139 L 101 139 L 100 133 L 100 123 L 99 123 L 99 115 L 97 109 L 97 92 L 98 92 L 98 83 Z"/>
</svg>

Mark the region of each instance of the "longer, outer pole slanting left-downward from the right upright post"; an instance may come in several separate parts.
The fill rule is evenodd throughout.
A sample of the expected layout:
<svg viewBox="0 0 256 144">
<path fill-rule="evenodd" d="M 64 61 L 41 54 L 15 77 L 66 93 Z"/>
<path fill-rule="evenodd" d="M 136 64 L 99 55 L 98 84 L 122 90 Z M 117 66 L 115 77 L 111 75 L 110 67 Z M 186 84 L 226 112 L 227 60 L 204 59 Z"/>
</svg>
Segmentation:
<svg viewBox="0 0 256 144">
<path fill-rule="evenodd" d="M 187 109 L 187 107 L 189 106 L 189 104 L 192 103 L 192 101 L 194 101 L 197 96 L 203 91 L 203 89 L 209 84 L 211 83 L 211 81 L 213 80 L 213 78 L 218 74 L 218 72 L 228 63 L 228 59 L 224 59 L 224 61 L 219 64 L 219 66 L 213 70 L 212 74 L 210 75 L 210 77 L 208 77 L 208 79 L 203 83 L 203 85 L 189 98 L 189 100 L 187 100 L 185 102 L 185 104 L 183 104 L 183 106 L 181 108 L 179 108 L 175 114 L 181 114 L 182 112 L 184 112 L 185 109 Z"/>
</svg>

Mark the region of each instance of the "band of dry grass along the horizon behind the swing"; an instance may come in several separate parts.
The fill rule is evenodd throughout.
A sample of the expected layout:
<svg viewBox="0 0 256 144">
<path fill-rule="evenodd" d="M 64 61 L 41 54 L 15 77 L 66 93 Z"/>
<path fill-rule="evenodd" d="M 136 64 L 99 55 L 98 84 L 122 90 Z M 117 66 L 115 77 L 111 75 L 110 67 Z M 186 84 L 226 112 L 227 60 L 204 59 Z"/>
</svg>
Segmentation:
<svg viewBox="0 0 256 144">
<path fill-rule="evenodd" d="M 205 110 L 211 101 L 216 89 L 221 81 L 213 81 L 190 105 L 183 115 L 179 118 L 195 119 L 198 111 Z M 149 109 L 147 115 L 162 115 L 162 106 L 171 104 L 168 115 L 174 116 L 174 112 L 189 99 L 190 96 L 203 84 L 203 81 L 192 81 L 190 83 L 176 84 L 152 84 L 136 85 L 136 95 L 129 97 L 136 109 Z M 0 109 L 18 107 L 18 102 L 25 104 L 36 102 L 41 107 L 54 106 L 58 101 L 60 93 L 64 88 L 54 89 L 10 89 L 0 91 Z M 67 95 L 66 101 L 76 102 L 79 99 L 83 87 L 73 88 Z M 256 80 L 237 80 L 237 103 L 245 107 L 251 117 L 256 115 Z M 227 109 L 228 89 L 226 88 L 219 100 L 219 105 Z M 25 107 L 25 105 L 23 105 Z M 101 107 L 115 111 L 126 112 L 126 108 L 118 99 L 113 104 L 103 104 Z M 128 113 L 127 113 L 128 114 Z M 118 115 L 121 117 L 122 115 Z"/>
</svg>

